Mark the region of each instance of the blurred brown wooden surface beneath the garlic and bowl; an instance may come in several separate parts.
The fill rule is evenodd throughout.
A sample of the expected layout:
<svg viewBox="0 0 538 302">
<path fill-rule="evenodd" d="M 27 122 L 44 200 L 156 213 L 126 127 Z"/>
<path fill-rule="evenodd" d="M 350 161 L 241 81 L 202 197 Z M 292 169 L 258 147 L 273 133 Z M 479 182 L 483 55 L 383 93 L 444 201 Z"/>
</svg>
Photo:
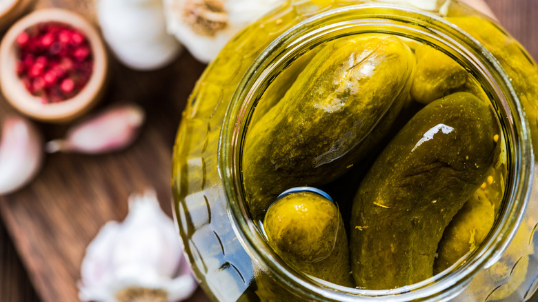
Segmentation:
<svg viewBox="0 0 538 302">
<path fill-rule="evenodd" d="M 538 1 L 486 2 L 508 32 L 538 59 Z M 38 0 L 38 7 L 83 12 L 88 3 Z M 77 301 L 76 284 L 86 245 L 103 223 L 125 217 L 131 192 L 155 188 L 162 208 L 171 214 L 169 184 L 175 131 L 188 94 L 204 67 L 187 52 L 156 72 L 135 72 L 112 62 L 116 77 L 112 77 L 101 108 L 118 101 L 139 103 L 147 110 L 146 126 L 135 145 L 119 154 L 52 154 L 32 185 L 0 197 L 1 302 Z M 0 120 L 10 112 L 0 95 Z M 66 132 L 65 125 L 40 126 L 46 139 Z M 206 300 L 198 290 L 190 301 Z"/>
</svg>

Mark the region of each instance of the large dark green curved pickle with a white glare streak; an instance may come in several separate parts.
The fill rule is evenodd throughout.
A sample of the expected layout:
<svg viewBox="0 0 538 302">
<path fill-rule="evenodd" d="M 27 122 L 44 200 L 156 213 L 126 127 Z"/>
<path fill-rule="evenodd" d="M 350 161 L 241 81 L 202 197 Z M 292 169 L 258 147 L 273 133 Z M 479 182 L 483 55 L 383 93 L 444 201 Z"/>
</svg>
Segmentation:
<svg viewBox="0 0 538 302">
<path fill-rule="evenodd" d="M 437 243 L 484 181 L 497 123 L 486 103 L 457 92 L 426 105 L 361 182 L 352 208 L 352 272 L 382 290 L 433 276 Z"/>
</svg>

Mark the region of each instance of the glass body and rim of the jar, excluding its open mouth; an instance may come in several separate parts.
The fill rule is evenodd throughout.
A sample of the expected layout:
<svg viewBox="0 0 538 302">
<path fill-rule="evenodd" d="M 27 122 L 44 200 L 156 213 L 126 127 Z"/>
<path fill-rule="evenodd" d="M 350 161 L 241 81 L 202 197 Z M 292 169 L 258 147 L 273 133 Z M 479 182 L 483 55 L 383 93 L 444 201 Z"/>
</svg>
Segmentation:
<svg viewBox="0 0 538 302">
<path fill-rule="evenodd" d="M 183 112 L 172 186 L 186 254 L 212 299 L 525 301 L 535 292 L 538 69 L 517 41 L 467 6 L 412 3 L 421 1 L 287 2 L 232 39 L 203 73 Z M 503 207 L 484 243 L 449 270 L 394 290 L 343 288 L 291 270 L 250 219 L 241 183 L 241 147 L 261 91 L 312 46 L 361 32 L 427 43 L 461 62 L 488 92 L 508 150 Z"/>
</svg>

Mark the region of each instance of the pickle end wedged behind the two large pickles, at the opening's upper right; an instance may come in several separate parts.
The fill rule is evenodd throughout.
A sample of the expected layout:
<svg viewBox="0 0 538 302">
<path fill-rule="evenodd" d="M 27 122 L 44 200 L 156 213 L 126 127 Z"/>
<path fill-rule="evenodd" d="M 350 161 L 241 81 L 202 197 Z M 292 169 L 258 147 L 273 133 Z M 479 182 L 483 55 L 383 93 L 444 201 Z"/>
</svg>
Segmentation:
<svg viewBox="0 0 538 302">
<path fill-rule="evenodd" d="M 411 87 L 415 101 L 431 103 L 466 83 L 466 70 L 443 52 L 421 45 L 415 50 L 415 56 L 417 68 Z"/>
</svg>

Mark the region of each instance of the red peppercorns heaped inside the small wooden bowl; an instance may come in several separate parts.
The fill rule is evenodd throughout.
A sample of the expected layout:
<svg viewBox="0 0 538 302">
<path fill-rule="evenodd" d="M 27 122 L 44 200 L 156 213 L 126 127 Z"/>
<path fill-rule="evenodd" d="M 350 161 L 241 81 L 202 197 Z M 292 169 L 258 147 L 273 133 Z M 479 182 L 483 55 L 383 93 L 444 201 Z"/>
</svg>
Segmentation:
<svg viewBox="0 0 538 302">
<path fill-rule="evenodd" d="M 39 23 L 17 37 L 17 74 L 43 103 L 71 99 L 93 70 L 90 43 L 79 30 L 59 22 Z"/>
</svg>

